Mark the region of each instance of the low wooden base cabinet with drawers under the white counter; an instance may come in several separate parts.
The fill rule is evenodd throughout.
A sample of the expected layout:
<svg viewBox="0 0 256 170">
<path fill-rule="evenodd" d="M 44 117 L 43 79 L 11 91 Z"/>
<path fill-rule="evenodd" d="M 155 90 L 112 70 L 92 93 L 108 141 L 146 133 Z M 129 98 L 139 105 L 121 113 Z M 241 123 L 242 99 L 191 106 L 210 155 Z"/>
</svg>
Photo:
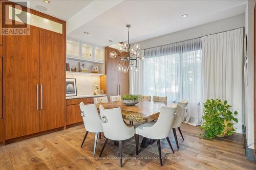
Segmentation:
<svg viewBox="0 0 256 170">
<path fill-rule="evenodd" d="M 67 125 L 72 125 L 82 122 L 82 117 L 80 115 L 79 104 L 83 102 L 84 104 L 93 104 L 93 98 L 80 98 L 80 99 L 68 99 L 66 104 L 67 112 Z"/>
</svg>

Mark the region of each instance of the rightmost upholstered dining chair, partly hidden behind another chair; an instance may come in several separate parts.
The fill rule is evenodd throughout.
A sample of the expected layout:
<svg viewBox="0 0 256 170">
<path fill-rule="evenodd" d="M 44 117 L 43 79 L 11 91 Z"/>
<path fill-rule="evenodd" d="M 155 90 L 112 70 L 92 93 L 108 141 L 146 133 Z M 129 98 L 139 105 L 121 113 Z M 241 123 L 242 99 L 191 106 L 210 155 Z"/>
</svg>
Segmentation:
<svg viewBox="0 0 256 170">
<path fill-rule="evenodd" d="M 185 101 L 185 100 L 182 100 L 182 102 L 177 103 L 177 109 L 176 109 L 176 113 L 175 113 L 175 117 L 174 117 L 174 122 L 173 122 L 173 125 L 172 125 L 175 142 L 176 142 L 176 145 L 177 145 L 178 149 L 179 149 L 179 143 L 178 143 L 178 138 L 177 138 L 177 134 L 176 134 L 176 128 L 178 128 L 178 130 L 180 132 L 180 135 L 181 135 L 182 139 L 184 140 L 184 137 L 183 137 L 182 132 L 180 130 L 180 126 L 181 126 L 181 123 L 183 122 L 183 119 L 184 119 L 186 106 L 187 106 L 187 101 Z"/>
</svg>

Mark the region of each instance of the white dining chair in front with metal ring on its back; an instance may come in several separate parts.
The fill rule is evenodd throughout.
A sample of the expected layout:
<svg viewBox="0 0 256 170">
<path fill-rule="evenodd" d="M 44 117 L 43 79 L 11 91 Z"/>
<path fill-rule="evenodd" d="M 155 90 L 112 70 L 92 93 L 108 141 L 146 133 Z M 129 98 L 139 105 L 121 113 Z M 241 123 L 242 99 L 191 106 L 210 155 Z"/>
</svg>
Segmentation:
<svg viewBox="0 0 256 170">
<path fill-rule="evenodd" d="M 99 157 L 101 157 L 108 139 L 119 141 L 119 161 L 120 166 L 122 167 L 122 141 L 133 137 L 135 128 L 134 126 L 127 126 L 124 124 L 120 108 L 104 109 L 103 106 L 100 105 L 99 110 L 105 136 Z"/>
</svg>

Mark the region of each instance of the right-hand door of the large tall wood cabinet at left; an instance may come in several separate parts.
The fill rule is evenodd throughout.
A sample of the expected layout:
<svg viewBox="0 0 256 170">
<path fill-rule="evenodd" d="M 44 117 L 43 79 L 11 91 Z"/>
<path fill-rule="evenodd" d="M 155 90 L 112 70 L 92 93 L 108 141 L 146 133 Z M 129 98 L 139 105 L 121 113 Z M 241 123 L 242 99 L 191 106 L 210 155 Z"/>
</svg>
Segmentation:
<svg viewBox="0 0 256 170">
<path fill-rule="evenodd" d="M 66 37 L 47 30 L 39 35 L 40 131 L 65 125 Z"/>
</svg>

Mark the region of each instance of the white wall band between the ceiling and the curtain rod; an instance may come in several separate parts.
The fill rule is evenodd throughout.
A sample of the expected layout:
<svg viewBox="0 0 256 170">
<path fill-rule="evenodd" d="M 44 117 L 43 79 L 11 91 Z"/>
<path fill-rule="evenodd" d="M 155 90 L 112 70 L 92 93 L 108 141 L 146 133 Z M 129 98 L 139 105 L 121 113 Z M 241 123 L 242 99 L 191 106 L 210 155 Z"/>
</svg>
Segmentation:
<svg viewBox="0 0 256 170">
<path fill-rule="evenodd" d="M 208 34 L 214 34 L 222 31 L 228 31 L 245 26 L 244 14 L 229 17 L 226 19 L 206 23 L 205 25 L 193 27 L 190 29 L 178 31 L 175 33 L 163 35 L 160 37 L 148 39 L 145 41 L 136 42 L 140 44 L 141 49 L 151 48 L 159 45 L 165 45 L 169 43 L 184 41 L 188 39 L 202 37 Z M 135 44 L 135 43 L 134 43 Z M 134 44 L 131 44 L 132 46 Z"/>
</svg>

